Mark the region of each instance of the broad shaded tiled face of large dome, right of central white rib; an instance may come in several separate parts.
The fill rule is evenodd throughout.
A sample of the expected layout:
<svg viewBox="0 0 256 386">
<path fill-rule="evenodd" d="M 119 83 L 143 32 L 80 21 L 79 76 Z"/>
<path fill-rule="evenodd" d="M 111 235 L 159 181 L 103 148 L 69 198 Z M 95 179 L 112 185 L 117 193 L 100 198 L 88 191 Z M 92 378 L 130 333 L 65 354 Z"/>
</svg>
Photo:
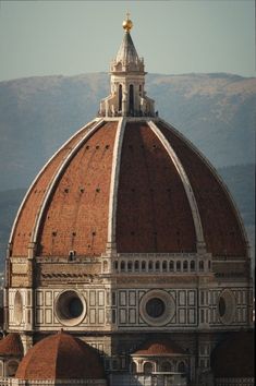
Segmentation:
<svg viewBox="0 0 256 386">
<path fill-rule="evenodd" d="M 144 122 L 125 128 L 117 209 L 118 252 L 196 252 L 188 200 L 170 156 Z"/>
</svg>

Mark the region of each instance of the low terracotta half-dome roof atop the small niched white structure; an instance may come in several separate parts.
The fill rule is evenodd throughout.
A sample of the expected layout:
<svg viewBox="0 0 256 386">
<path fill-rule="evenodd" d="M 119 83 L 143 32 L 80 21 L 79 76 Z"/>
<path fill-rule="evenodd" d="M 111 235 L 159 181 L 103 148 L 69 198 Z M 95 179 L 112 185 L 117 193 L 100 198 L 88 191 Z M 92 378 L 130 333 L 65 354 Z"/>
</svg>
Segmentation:
<svg viewBox="0 0 256 386">
<path fill-rule="evenodd" d="M 145 342 L 139 350 L 133 353 L 133 355 L 176 355 L 185 354 L 184 350 L 170 340 L 157 340 L 157 341 L 147 341 Z"/>
</svg>

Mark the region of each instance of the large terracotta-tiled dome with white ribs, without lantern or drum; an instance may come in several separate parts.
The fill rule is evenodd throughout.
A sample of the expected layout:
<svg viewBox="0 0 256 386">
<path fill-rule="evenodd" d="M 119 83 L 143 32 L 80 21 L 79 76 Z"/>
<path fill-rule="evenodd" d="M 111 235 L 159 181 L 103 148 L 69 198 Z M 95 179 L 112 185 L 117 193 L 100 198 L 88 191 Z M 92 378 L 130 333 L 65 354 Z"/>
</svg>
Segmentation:
<svg viewBox="0 0 256 386">
<path fill-rule="evenodd" d="M 96 119 L 69 140 L 32 184 L 10 254 L 100 256 L 196 252 L 246 256 L 233 202 L 217 173 L 160 119 Z"/>
</svg>

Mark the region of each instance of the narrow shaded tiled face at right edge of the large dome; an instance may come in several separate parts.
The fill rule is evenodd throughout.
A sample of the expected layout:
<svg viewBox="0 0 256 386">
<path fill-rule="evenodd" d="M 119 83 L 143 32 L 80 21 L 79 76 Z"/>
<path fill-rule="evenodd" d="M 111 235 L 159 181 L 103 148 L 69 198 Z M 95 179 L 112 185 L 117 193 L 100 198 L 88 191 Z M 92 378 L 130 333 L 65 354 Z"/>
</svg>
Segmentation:
<svg viewBox="0 0 256 386">
<path fill-rule="evenodd" d="M 174 130 L 159 124 L 190 179 L 197 202 L 207 251 L 214 256 L 246 256 L 246 241 L 236 209 L 206 160 Z"/>
</svg>

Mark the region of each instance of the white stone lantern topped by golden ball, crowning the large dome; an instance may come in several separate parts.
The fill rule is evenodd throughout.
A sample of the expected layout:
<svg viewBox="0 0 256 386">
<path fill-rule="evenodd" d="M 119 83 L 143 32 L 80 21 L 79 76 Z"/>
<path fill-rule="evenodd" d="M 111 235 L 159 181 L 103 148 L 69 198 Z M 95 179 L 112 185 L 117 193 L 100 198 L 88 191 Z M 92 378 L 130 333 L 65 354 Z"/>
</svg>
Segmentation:
<svg viewBox="0 0 256 386">
<path fill-rule="evenodd" d="M 111 62 L 111 94 L 100 102 L 100 116 L 106 117 L 154 117 L 154 100 L 144 91 L 144 60 L 134 47 L 130 31 L 133 22 L 126 14 L 122 44 Z"/>
</svg>

